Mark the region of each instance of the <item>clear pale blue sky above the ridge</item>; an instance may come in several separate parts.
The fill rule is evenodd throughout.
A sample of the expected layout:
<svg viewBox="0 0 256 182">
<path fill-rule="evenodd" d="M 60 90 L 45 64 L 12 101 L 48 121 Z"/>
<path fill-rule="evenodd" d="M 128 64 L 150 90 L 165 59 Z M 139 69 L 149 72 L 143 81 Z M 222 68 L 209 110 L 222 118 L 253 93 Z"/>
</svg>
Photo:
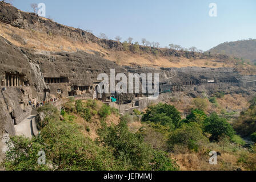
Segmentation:
<svg viewBox="0 0 256 182">
<path fill-rule="evenodd" d="M 110 39 L 129 36 L 170 43 L 182 47 L 195 46 L 206 51 L 223 42 L 256 39 L 255 0 L 14 0 L 23 11 L 33 10 L 31 3 L 45 3 L 46 18 L 92 30 Z M 210 17 L 210 3 L 217 4 L 217 17 Z"/>
</svg>

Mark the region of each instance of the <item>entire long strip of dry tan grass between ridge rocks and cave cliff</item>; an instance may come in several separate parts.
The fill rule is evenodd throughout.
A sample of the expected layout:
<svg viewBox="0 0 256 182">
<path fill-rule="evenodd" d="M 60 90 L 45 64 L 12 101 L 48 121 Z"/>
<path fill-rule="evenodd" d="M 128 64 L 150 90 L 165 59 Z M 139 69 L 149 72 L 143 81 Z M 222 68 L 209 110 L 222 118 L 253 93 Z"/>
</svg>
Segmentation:
<svg viewBox="0 0 256 182">
<path fill-rule="evenodd" d="M 34 30 L 23 30 L 10 24 L 0 23 L 0 36 L 6 38 L 18 47 L 34 49 L 37 52 L 77 52 L 79 50 L 94 54 L 97 51 L 105 55 L 105 59 L 115 61 L 120 65 L 138 64 L 150 67 L 233 67 L 230 63 L 218 63 L 206 59 L 186 59 L 184 57 L 159 57 L 147 53 L 131 53 L 125 51 L 113 51 L 102 48 L 96 43 L 84 43 L 74 41 L 68 37 L 56 34 L 47 34 Z M 207 65 L 205 65 L 207 61 Z"/>
</svg>

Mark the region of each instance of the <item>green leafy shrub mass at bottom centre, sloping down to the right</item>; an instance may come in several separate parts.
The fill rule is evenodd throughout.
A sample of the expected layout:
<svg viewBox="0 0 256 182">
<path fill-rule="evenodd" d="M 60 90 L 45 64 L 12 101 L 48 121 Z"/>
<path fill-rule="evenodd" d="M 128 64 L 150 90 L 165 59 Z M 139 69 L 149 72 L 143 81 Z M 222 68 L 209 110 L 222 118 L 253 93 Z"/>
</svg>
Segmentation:
<svg viewBox="0 0 256 182">
<path fill-rule="evenodd" d="M 127 127 L 127 115 L 117 126 L 99 130 L 104 146 L 114 151 L 122 170 L 177 170 L 178 166 L 165 153 L 153 150 L 140 134 L 133 134 Z"/>
</svg>

